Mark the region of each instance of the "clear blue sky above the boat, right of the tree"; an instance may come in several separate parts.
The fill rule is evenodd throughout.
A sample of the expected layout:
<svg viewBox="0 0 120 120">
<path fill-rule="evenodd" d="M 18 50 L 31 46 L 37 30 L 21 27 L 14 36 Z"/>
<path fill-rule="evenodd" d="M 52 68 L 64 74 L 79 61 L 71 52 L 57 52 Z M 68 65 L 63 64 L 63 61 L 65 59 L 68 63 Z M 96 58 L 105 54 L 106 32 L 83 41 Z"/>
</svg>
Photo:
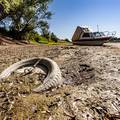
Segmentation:
<svg viewBox="0 0 120 120">
<path fill-rule="evenodd" d="M 89 26 L 101 31 L 116 31 L 120 37 L 120 0 L 53 0 L 50 31 L 59 38 L 72 38 L 76 27 Z"/>
</svg>

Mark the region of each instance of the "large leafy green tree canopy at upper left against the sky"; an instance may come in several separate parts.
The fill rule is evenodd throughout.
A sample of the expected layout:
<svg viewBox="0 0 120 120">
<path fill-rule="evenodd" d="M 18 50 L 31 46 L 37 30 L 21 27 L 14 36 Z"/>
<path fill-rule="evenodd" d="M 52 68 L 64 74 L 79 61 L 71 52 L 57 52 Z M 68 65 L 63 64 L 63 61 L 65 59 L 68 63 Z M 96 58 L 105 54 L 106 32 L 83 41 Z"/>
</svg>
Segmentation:
<svg viewBox="0 0 120 120">
<path fill-rule="evenodd" d="M 49 29 L 52 13 L 48 5 L 52 0 L 2 0 L 0 1 L 0 26 L 9 30 L 15 39 L 25 39 L 33 30 Z"/>
</svg>

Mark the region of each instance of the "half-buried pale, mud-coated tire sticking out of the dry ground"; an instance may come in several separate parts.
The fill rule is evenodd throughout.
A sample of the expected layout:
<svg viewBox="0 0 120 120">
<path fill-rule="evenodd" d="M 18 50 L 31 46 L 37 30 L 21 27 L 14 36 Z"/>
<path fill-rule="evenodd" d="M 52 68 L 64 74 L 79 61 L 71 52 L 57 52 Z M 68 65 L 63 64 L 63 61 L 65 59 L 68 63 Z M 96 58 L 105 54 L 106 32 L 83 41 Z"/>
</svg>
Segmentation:
<svg viewBox="0 0 120 120">
<path fill-rule="evenodd" d="M 48 89 L 60 87 L 63 84 L 63 79 L 59 66 L 53 60 L 45 57 L 25 59 L 11 65 L 0 74 L 0 80 L 7 78 L 17 69 L 27 66 L 34 66 L 35 63 L 37 63 L 37 66 L 44 66 L 47 68 L 47 77 L 44 79 L 42 85 L 33 89 L 34 92 L 46 91 Z"/>
</svg>

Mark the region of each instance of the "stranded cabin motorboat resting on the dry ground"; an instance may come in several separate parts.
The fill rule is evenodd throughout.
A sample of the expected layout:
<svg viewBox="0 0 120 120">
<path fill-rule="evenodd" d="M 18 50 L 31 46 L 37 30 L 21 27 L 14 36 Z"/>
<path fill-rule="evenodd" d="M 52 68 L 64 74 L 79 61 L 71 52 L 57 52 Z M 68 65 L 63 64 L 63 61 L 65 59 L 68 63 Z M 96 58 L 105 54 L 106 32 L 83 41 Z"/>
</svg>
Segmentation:
<svg viewBox="0 0 120 120">
<path fill-rule="evenodd" d="M 73 37 L 73 45 L 101 46 L 112 39 L 112 36 L 104 32 L 91 32 L 89 28 L 78 26 Z"/>
</svg>

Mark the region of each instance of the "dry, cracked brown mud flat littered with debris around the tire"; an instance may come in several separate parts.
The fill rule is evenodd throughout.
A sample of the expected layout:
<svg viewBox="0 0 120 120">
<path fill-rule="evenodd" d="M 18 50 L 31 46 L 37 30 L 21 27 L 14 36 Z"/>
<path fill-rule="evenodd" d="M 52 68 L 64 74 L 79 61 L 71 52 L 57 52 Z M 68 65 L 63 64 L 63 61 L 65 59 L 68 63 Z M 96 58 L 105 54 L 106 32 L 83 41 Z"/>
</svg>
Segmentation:
<svg viewBox="0 0 120 120">
<path fill-rule="evenodd" d="M 41 56 L 58 63 L 64 85 L 35 94 L 31 89 L 40 76 L 9 77 L 0 83 L 0 120 L 120 119 L 118 45 L 0 46 L 0 72 L 19 60 Z"/>
</svg>

